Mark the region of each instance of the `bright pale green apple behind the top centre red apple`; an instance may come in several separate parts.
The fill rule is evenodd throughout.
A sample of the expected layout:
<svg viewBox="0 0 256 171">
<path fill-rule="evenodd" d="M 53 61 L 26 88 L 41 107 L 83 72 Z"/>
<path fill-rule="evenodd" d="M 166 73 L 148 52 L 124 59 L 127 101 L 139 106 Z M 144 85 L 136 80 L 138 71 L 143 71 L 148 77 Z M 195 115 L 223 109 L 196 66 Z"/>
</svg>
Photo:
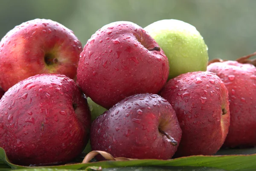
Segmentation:
<svg viewBox="0 0 256 171">
<path fill-rule="evenodd" d="M 194 26 L 169 19 L 156 21 L 144 29 L 168 57 L 169 79 L 186 72 L 206 71 L 208 47 Z"/>
</svg>

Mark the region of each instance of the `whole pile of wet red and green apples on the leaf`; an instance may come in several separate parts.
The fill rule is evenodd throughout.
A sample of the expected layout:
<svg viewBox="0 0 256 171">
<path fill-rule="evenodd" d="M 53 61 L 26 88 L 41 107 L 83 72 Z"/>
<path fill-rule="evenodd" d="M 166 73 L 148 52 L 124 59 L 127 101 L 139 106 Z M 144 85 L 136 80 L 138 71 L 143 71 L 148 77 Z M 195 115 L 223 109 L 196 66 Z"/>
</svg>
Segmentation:
<svg viewBox="0 0 256 171">
<path fill-rule="evenodd" d="M 84 49 L 60 23 L 22 23 L 0 41 L 0 147 L 20 165 L 70 162 L 89 139 L 134 159 L 252 147 L 256 67 L 207 66 L 207 50 L 179 20 L 110 23 Z"/>
</svg>

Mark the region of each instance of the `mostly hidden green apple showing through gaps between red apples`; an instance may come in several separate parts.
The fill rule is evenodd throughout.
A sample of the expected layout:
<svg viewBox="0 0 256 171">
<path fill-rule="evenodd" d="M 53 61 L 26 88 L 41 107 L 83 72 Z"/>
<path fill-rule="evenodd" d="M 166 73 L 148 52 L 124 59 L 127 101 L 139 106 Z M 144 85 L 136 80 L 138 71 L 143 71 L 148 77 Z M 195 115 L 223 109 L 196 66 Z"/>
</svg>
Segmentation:
<svg viewBox="0 0 256 171">
<path fill-rule="evenodd" d="M 90 97 L 87 97 L 87 103 L 90 109 L 92 122 L 94 121 L 94 119 L 96 119 L 99 115 L 101 115 L 107 110 L 104 107 L 100 106 L 99 104 L 96 104 Z M 90 140 L 89 140 L 86 147 L 84 148 L 83 153 L 89 153 L 90 151 L 92 150 L 91 150 Z"/>
</svg>

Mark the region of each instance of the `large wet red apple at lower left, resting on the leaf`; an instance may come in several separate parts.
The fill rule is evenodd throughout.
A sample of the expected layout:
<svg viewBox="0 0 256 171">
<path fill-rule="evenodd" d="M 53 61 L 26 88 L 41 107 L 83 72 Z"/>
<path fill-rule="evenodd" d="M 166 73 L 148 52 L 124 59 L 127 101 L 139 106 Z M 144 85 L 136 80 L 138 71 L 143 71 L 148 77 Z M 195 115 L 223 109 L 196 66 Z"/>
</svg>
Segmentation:
<svg viewBox="0 0 256 171">
<path fill-rule="evenodd" d="M 0 118 L 0 147 L 15 164 L 65 163 L 88 142 L 87 101 L 65 75 L 35 75 L 15 84 L 0 100 Z"/>
</svg>

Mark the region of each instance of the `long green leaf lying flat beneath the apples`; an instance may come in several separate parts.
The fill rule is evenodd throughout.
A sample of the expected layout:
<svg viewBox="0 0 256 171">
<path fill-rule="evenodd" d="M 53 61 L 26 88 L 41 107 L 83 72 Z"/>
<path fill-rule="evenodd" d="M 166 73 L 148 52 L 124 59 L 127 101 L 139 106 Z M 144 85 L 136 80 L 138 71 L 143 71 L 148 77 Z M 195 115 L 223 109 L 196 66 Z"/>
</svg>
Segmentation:
<svg viewBox="0 0 256 171">
<path fill-rule="evenodd" d="M 244 151 L 255 151 L 255 148 L 244 149 Z M 221 150 L 225 151 L 225 150 Z M 220 152 L 221 152 L 220 151 Z M 241 149 L 238 150 L 241 152 Z M 224 152 L 223 152 L 224 153 Z M 235 150 L 232 152 L 235 153 Z M 12 169 L 21 169 L 21 168 L 43 168 L 43 167 L 29 167 L 29 166 L 19 166 L 14 165 L 9 162 L 6 157 L 5 151 L 3 148 L 0 148 L 0 161 L 9 165 Z M 58 166 L 46 166 L 44 168 L 58 168 L 58 169 L 89 169 L 90 166 L 100 166 L 102 168 L 118 168 L 120 167 L 137 167 L 135 170 L 140 171 L 140 169 L 145 169 L 144 167 L 151 166 L 152 169 L 155 167 L 160 167 L 165 169 L 163 166 L 169 166 L 168 169 L 177 169 L 173 167 L 203 167 L 198 169 L 204 169 L 202 171 L 211 171 L 207 169 L 221 169 L 229 171 L 250 171 L 256 170 L 256 154 L 250 155 L 222 155 L 222 156 L 190 156 L 190 157 L 180 157 L 170 160 L 157 160 L 157 159 L 140 159 L 140 160 L 131 160 L 131 161 L 101 161 L 101 162 L 90 162 L 90 163 L 75 163 L 67 165 L 58 165 Z M 208 168 L 205 168 L 208 167 Z M 139 169 L 140 168 L 140 169 Z M 125 169 L 125 168 L 122 168 Z M 137 170 L 139 169 L 139 170 Z M 180 168 L 179 168 L 180 169 Z M 186 168 L 183 168 L 186 169 Z M 4 171 L 7 171 L 6 169 Z M 108 171 L 108 170 L 105 170 Z M 110 170 L 109 170 L 110 171 Z M 121 171 L 121 170 L 120 170 Z M 143 170 L 142 170 L 143 171 Z M 185 170 L 186 171 L 186 170 Z M 201 171 L 201 170 L 199 170 Z M 214 171 L 214 170 L 213 170 Z"/>
</svg>

